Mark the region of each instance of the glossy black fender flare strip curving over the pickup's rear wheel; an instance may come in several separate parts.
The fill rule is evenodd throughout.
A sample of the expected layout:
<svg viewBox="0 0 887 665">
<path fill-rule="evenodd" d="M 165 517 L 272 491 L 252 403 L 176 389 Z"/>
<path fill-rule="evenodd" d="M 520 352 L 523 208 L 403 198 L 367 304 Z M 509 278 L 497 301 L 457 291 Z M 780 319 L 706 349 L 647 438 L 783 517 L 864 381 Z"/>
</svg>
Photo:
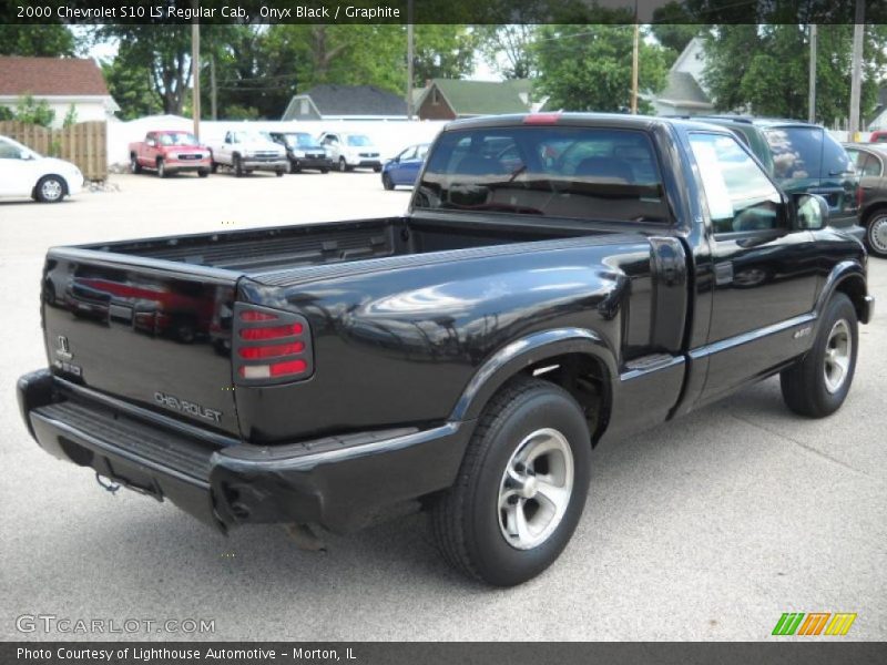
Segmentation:
<svg viewBox="0 0 887 665">
<path fill-rule="evenodd" d="M 490 398 L 519 371 L 564 354 L 584 354 L 600 361 L 606 369 L 606 390 L 612 399 L 619 372 L 615 354 L 603 337 L 585 328 L 555 328 L 521 337 L 490 356 L 471 377 L 449 420 L 478 418 Z"/>
</svg>

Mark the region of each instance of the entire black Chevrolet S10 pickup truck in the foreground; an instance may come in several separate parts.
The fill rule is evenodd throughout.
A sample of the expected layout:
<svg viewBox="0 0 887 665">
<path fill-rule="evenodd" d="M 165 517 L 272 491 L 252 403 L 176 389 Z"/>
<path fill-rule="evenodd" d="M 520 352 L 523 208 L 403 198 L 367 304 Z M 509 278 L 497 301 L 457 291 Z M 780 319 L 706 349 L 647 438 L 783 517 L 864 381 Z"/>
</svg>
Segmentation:
<svg viewBox="0 0 887 665">
<path fill-rule="evenodd" d="M 451 564 L 518 584 L 600 441 L 777 372 L 793 411 L 840 407 L 874 300 L 827 222 L 723 127 L 455 122 L 404 217 L 51 249 L 22 416 L 221 529 L 426 509 Z"/>
</svg>

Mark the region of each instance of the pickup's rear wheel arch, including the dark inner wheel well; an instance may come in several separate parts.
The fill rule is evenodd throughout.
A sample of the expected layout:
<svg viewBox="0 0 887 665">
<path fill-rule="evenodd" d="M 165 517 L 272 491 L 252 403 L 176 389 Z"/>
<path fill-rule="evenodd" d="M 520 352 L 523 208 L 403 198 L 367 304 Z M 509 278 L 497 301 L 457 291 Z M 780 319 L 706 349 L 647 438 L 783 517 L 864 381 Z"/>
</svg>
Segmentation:
<svg viewBox="0 0 887 665">
<path fill-rule="evenodd" d="M 534 376 L 570 392 L 589 419 L 592 441 L 600 439 L 618 377 L 615 355 L 600 335 L 584 328 L 558 328 L 510 342 L 475 372 L 450 420 L 477 419 L 502 386 L 518 376 Z"/>
</svg>

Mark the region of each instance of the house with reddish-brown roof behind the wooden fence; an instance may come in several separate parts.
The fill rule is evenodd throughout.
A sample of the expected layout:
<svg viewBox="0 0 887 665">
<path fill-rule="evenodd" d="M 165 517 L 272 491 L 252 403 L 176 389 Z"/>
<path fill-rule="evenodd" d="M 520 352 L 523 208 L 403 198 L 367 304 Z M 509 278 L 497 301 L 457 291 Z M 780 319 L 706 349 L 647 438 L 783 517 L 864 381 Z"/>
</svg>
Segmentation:
<svg viewBox="0 0 887 665">
<path fill-rule="evenodd" d="M 73 105 L 77 122 L 105 121 L 120 110 L 94 60 L 0 57 L 0 106 L 12 110 L 24 95 L 45 100 L 60 127 Z"/>
</svg>

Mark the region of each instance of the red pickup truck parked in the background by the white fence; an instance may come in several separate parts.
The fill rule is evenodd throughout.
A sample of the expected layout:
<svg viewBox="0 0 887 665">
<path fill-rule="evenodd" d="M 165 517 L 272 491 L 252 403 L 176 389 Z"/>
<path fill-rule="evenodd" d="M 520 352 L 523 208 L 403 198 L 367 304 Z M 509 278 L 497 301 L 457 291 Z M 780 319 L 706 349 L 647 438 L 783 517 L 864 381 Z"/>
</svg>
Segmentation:
<svg viewBox="0 0 887 665">
<path fill-rule="evenodd" d="M 150 168 L 160 177 L 170 173 L 196 171 L 201 177 L 210 175 L 212 155 L 190 132 L 147 132 L 144 141 L 130 143 L 130 171 L 142 173 Z"/>
</svg>

